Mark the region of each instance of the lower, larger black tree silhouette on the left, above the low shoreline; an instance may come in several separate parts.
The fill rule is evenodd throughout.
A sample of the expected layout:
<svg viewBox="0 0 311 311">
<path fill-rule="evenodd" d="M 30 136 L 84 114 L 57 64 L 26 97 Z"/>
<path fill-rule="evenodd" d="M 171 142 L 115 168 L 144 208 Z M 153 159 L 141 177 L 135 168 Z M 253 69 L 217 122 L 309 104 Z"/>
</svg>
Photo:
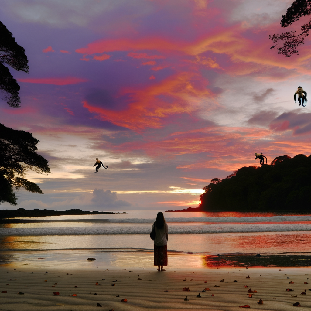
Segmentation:
<svg viewBox="0 0 311 311">
<path fill-rule="evenodd" d="M 0 204 L 17 204 L 13 187 L 43 193 L 37 184 L 24 178 L 26 169 L 50 173 L 48 161 L 36 152 L 38 142 L 29 132 L 13 130 L 0 123 Z"/>
</svg>

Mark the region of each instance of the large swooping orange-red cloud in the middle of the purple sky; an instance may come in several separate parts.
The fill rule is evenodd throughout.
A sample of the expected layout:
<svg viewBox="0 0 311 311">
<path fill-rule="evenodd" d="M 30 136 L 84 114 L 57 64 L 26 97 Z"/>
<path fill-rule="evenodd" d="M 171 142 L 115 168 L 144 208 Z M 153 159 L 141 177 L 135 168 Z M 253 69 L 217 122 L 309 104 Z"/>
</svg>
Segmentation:
<svg viewBox="0 0 311 311">
<path fill-rule="evenodd" d="M 196 79 L 201 81 L 202 77 L 183 72 L 142 90 L 124 89 L 120 96 L 127 94 L 130 104 L 128 109 L 122 111 L 94 107 L 87 101 L 83 102 L 83 107 L 97 114 L 101 120 L 132 130 L 161 128 L 161 118 L 172 114 L 189 114 L 197 109 L 198 102 L 211 97 L 205 87 L 195 86 Z"/>
</svg>

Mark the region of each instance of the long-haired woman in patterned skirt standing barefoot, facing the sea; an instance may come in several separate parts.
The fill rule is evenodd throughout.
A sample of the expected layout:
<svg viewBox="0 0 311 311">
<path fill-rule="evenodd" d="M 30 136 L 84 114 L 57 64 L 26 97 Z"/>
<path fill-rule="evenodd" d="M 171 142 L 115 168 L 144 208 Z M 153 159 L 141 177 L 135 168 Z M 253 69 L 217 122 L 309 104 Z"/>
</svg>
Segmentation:
<svg viewBox="0 0 311 311">
<path fill-rule="evenodd" d="M 158 271 L 165 271 L 163 266 L 167 266 L 167 240 L 169 227 L 165 222 L 162 212 L 158 212 L 156 216 L 156 222 L 152 225 L 152 230 L 154 229 L 156 230 L 156 238 L 153 241 L 154 265 L 158 266 Z"/>
</svg>

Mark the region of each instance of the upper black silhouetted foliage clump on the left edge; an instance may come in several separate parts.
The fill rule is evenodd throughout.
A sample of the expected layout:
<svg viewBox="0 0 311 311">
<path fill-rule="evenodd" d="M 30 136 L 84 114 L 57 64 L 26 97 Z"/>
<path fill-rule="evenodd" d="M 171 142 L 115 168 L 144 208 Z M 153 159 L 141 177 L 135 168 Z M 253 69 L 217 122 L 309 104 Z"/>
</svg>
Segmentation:
<svg viewBox="0 0 311 311">
<path fill-rule="evenodd" d="M 18 45 L 12 33 L 0 21 L 0 90 L 6 95 L 3 100 L 11 107 L 20 107 L 20 90 L 16 80 L 12 77 L 9 69 L 3 64 L 7 64 L 17 71 L 28 72 L 28 59 L 25 49 Z"/>
</svg>

